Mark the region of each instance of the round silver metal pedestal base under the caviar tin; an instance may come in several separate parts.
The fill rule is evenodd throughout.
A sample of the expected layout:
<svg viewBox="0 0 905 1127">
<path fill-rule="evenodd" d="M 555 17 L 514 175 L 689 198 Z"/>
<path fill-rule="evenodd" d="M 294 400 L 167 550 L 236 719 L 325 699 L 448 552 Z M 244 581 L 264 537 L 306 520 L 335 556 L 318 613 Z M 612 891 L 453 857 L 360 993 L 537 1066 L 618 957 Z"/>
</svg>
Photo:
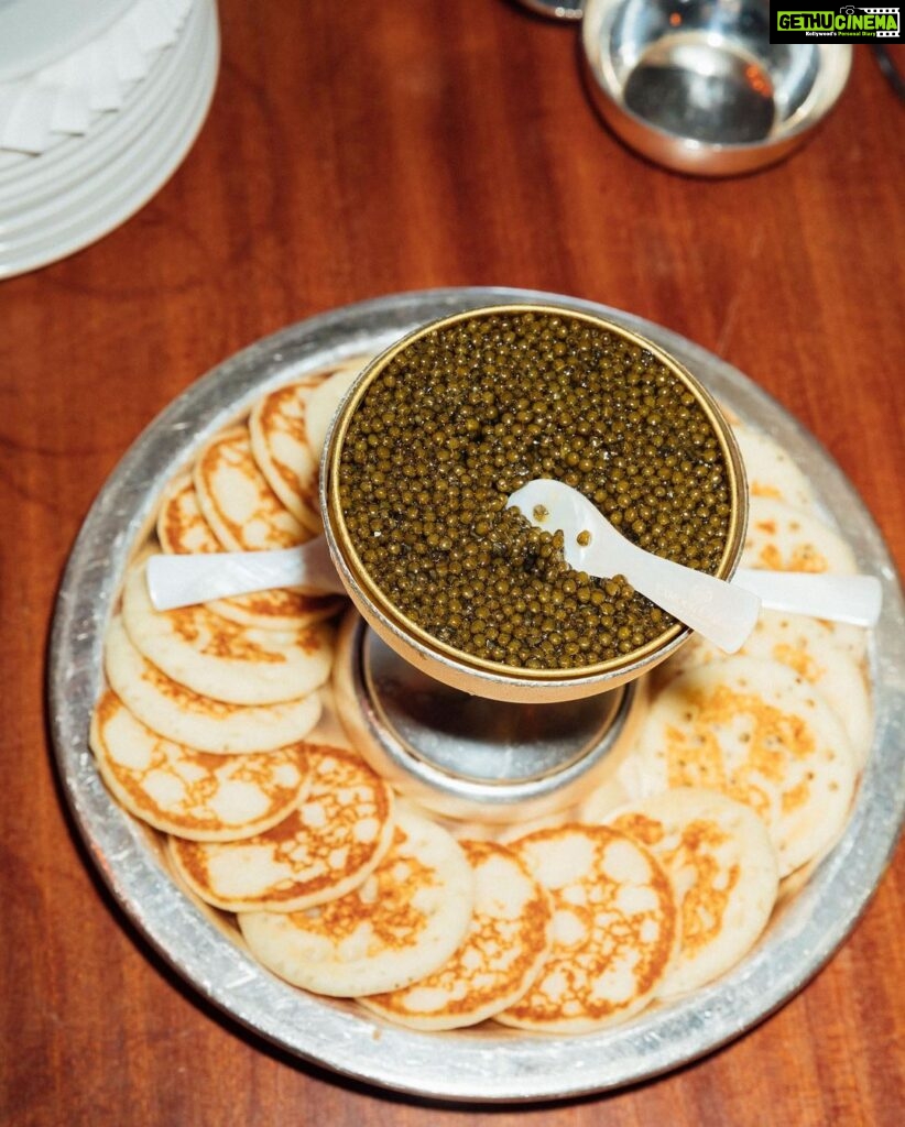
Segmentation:
<svg viewBox="0 0 905 1127">
<path fill-rule="evenodd" d="M 521 704 L 449 687 L 352 613 L 334 666 L 339 719 L 400 792 L 452 818 L 520 823 L 576 802 L 635 730 L 638 682 L 584 700 Z"/>
</svg>

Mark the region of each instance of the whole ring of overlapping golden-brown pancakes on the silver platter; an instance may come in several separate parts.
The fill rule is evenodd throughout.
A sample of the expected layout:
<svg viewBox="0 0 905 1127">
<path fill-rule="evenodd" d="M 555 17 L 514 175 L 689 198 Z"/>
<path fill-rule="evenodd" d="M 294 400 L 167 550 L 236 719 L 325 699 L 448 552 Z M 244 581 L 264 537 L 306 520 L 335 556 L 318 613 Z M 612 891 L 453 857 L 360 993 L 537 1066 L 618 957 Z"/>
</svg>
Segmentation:
<svg viewBox="0 0 905 1127">
<path fill-rule="evenodd" d="M 870 745 L 862 632 L 764 614 L 740 655 L 691 641 L 656 671 L 606 781 L 543 824 L 490 831 L 416 808 L 331 716 L 343 600 L 273 591 L 161 613 L 143 576 L 148 551 L 314 535 L 327 425 L 363 364 L 265 394 L 169 483 L 107 632 L 91 730 L 105 782 L 261 964 L 388 1020 L 584 1032 L 699 988 L 752 949 L 844 825 Z M 787 455 L 736 433 L 745 562 L 854 570 Z"/>
</svg>

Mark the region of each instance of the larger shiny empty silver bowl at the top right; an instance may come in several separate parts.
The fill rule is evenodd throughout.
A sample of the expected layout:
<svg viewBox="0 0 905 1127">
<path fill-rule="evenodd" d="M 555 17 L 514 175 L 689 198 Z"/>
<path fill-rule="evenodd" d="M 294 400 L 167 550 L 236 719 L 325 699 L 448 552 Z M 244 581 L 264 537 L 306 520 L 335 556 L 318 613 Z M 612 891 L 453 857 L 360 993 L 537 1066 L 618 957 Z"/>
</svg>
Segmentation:
<svg viewBox="0 0 905 1127">
<path fill-rule="evenodd" d="M 839 99 L 848 45 L 771 44 L 769 0 L 587 0 L 588 89 L 628 145 L 667 168 L 773 165 Z"/>
</svg>

